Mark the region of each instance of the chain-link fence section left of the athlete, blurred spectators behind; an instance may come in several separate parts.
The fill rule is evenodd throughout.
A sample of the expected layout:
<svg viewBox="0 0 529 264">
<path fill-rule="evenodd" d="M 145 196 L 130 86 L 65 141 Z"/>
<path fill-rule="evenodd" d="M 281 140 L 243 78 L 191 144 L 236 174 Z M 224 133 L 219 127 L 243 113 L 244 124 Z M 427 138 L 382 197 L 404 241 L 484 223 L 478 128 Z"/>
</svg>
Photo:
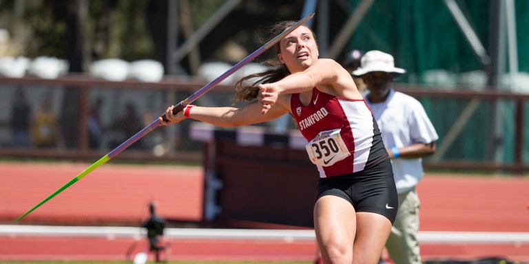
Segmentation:
<svg viewBox="0 0 529 264">
<path fill-rule="evenodd" d="M 189 78 L 174 83 L 2 78 L 0 149 L 3 156 L 82 159 L 104 155 L 206 83 Z M 230 106 L 233 95 L 233 85 L 218 85 L 193 103 Z M 286 124 L 293 128 L 291 122 Z M 188 134 L 189 122 L 159 126 L 123 154 L 139 159 L 198 161 L 202 143 L 189 140 Z"/>
</svg>

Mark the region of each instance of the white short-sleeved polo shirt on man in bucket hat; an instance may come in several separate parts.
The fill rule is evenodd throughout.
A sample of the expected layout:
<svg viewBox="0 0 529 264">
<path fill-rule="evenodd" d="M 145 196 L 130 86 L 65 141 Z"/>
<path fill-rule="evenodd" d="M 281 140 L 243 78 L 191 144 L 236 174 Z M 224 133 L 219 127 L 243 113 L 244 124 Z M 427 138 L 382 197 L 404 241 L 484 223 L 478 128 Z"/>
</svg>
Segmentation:
<svg viewBox="0 0 529 264">
<path fill-rule="evenodd" d="M 368 97 L 369 92 L 364 96 Z M 424 107 L 415 98 L 390 89 L 384 102 L 372 103 L 366 99 L 377 120 L 386 148 L 402 148 L 414 143 L 428 144 L 439 139 Z M 422 159 L 391 159 L 397 192 L 412 190 L 424 175 Z"/>
</svg>

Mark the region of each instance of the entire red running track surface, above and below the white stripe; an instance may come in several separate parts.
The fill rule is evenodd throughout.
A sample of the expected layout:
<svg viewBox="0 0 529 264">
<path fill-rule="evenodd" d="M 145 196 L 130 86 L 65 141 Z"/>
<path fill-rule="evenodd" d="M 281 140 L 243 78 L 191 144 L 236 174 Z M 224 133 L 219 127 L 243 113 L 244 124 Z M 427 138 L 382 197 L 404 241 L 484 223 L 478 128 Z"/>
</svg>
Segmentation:
<svg viewBox="0 0 529 264">
<path fill-rule="evenodd" d="M 90 164 L 0 164 L 0 221 L 14 219 Z M 149 201 L 167 219 L 200 221 L 203 172 L 176 166 L 106 164 L 19 224 L 138 226 Z M 427 174 L 417 188 L 422 231 L 529 232 L 529 179 Z M 172 260 L 311 261 L 311 241 L 171 241 Z M 0 260 L 124 260 L 144 241 L 76 237 L 0 237 Z M 424 260 L 504 256 L 529 262 L 529 245 L 423 244 Z"/>
</svg>

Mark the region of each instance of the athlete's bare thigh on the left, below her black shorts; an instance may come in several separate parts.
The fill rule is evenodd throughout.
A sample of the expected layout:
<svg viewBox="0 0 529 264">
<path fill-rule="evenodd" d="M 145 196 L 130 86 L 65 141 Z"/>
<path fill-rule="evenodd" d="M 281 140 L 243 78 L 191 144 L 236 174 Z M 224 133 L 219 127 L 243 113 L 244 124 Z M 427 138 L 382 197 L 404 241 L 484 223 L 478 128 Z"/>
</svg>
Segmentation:
<svg viewBox="0 0 529 264">
<path fill-rule="evenodd" d="M 355 209 L 346 199 L 325 195 L 316 201 L 314 227 L 320 247 L 338 247 L 352 254 L 355 223 Z"/>
</svg>

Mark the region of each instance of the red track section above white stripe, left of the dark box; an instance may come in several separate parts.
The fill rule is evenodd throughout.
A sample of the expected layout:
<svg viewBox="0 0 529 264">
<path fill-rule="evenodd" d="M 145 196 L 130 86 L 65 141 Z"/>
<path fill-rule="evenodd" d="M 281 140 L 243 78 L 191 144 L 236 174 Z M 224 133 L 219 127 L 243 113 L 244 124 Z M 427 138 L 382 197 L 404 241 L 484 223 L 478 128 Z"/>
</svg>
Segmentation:
<svg viewBox="0 0 529 264">
<path fill-rule="evenodd" d="M 0 164 L 0 220 L 11 223 L 90 164 Z M 129 222 L 148 217 L 149 201 L 168 219 L 202 219 L 200 168 L 105 164 L 19 223 Z"/>
</svg>

